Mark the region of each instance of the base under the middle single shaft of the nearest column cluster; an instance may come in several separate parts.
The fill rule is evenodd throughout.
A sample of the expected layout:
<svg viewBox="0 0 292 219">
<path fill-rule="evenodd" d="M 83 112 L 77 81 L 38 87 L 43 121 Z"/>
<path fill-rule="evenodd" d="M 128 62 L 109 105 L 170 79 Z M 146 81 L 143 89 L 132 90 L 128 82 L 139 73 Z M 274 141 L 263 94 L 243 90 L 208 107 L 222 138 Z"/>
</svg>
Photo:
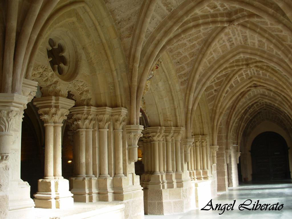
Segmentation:
<svg viewBox="0 0 292 219">
<path fill-rule="evenodd" d="M 97 181 L 99 201 L 113 201 L 114 190 L 112 190 L 112 177 L 98 177 Z"/>
</svg>

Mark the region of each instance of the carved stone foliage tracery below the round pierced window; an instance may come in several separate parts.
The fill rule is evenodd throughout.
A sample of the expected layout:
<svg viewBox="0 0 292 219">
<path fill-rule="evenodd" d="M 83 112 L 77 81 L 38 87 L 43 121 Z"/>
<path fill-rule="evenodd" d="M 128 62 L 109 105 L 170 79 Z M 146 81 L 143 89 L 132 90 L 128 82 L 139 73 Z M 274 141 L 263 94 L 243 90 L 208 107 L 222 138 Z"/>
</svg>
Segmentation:
<svg viewBox="0 0 292 219">
<path fill-rule="evenodd" d="M 32 70 L 31 79 L 39 82 L 42 96 L 60 96 L 67 98 L 68 92 L 72 93 L 76 106 L 91 106 L 92 93 L 88 84 L 80 79 L 71 82 L 62 81 L 46 65 L 37 66 Z"/>
</svg>

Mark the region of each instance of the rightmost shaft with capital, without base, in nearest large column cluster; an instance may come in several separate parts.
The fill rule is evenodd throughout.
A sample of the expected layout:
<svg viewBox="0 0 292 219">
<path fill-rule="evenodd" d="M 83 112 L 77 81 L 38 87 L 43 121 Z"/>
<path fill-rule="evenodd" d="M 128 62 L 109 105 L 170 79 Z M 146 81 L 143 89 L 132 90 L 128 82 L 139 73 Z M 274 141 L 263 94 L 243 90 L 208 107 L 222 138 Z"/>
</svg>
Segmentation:
<svg viewBox="0 0 292 219">
<path fill-rule="evenodd" d="M 115 154 L 115 177 L 124 177 L 123 174 L 123 126 L 128 110 L 122 107 L 112 110 L 112 119 L 114 122 L 114 154 Z"/>
</svg>

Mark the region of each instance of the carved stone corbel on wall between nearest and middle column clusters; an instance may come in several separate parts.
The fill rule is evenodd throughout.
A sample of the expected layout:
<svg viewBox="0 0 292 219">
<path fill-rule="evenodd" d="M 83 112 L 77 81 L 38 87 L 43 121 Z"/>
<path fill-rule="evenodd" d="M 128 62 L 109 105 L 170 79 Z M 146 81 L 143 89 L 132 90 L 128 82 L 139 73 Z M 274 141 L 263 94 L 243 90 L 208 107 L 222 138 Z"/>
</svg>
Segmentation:
<svg viewBox="0 0 292 219">
<path fill-rule="evenodd" d="M 143 126 L 141 125 L 126 125 L 129 160 L 131 162 L 138 160 L 138 140 L 142 137 L 142 130 Z"/>
</svg>

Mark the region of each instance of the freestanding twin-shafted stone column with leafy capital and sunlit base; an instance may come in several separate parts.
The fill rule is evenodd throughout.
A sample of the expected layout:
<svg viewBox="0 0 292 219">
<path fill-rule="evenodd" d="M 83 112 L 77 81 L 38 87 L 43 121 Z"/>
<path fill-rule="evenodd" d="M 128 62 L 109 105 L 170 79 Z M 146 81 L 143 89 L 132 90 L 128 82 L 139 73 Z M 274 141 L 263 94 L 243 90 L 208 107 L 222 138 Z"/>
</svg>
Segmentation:
<svg viewBox="0 0 292 219">
<path fill-rule="evenodd" d="M 62 177 L 61 166 L 61 126 L 67 119 L 73 100 L 62 97 L 35 98 L 34 104 L 44 121 L 45 134 L 45 176 L 38 182 L 38 192 L 34 194 L 37 208 L 67 208 L 73 206 L 69 181 Z M 55 128 L 57 127 L 57 128 Z M 59 128 L 58 128 L 59 127 Z"/>
</svg>

